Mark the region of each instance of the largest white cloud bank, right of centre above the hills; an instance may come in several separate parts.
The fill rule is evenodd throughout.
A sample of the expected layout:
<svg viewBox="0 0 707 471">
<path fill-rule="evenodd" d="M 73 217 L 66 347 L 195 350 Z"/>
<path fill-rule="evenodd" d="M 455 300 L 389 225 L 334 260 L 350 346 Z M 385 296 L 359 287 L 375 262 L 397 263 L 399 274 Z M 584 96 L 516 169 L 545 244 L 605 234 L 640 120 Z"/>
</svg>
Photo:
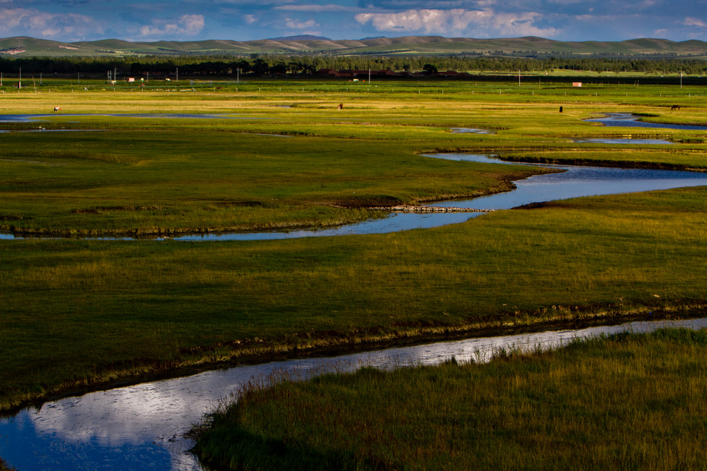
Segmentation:
<svg viewBox="0 0 707 471">
<path fill-rule="evenodd" d="M 472 31 L 476 35 L 512 35 L 552 37 L 554 28 L 537 28 L 534 22 L 541 19 L 540 13 L 495 13 L 491 9 L 464 10 L 407 10 L 399 13 L 359 13 L 356 21 L 371 23 L 379 31 L 411 31 L 425 34 L 464 35 Z"/>
</svg>

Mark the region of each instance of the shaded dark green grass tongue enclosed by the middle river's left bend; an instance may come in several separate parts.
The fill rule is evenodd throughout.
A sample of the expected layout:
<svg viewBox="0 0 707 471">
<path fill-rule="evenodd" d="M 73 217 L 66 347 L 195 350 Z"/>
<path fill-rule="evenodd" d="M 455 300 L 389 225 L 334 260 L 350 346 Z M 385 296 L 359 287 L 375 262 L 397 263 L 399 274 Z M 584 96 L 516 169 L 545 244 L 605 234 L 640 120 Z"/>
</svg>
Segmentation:
<svg viewBox="0 0 707 471">
<path fill-rule="evenodd" d="M 415 144 L 428 141 L 175 128 L 8 133 L 0 141 L 0 229 L 70 235 L 334 226 L 380 216 L 368 207 L 507 190 L 532 171 L 440 163 L 416 156 Z"/>
</svg>

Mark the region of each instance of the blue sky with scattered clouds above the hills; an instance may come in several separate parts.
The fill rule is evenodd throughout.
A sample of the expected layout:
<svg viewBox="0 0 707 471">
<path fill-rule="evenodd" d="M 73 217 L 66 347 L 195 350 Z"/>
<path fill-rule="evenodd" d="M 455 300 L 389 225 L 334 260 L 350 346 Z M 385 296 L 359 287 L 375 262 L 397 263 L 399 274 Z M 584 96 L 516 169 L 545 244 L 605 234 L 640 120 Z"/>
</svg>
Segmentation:
<svg viewBox="0 0 707 471">
<path fill-rule="evenodd" d="M 0 0 L 0 37 L 256 40 L 290 35 L 707 40 L 707 0 Z"/>
</svg>

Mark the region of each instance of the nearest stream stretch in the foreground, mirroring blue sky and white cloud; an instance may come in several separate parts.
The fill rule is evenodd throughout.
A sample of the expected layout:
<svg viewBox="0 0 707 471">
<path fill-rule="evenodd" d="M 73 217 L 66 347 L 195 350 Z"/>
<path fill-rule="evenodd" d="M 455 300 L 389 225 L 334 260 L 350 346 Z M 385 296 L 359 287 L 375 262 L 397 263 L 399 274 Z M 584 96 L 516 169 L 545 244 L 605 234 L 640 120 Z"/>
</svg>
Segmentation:
<svg viewBox="0 0 707 471">
<path fill-rule="evenodd" d="M 631 322 L 621 326 L 537 332 L 398 347 L 324 359 L 299 359 L 206 371 L 47 402 L 0 419 L 0 456 L 25 470 L 200 470 L 182 434 L 252 378 L 289 371 L 307 377 L 351 371 L 457 361 L 487 361 L 501 347 L 551 348 L 575 337 L 619 330 L 643 332 L 670 325 L 707 327 L 707 319 Z"/>
</svg>

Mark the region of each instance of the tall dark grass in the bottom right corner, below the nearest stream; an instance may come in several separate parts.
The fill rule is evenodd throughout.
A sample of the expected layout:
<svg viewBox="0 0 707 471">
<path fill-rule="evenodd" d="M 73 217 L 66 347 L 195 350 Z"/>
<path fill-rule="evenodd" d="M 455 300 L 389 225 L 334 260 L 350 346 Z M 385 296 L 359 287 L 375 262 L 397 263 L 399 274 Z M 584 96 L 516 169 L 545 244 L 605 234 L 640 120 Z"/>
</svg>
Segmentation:
<svg viewBox="0 0 707 471">
<path fill-rule="evenodd" d="M 703 469 L 707 331 L 246 390 L 201 431 L 239 470 Z"/>
</svg>

